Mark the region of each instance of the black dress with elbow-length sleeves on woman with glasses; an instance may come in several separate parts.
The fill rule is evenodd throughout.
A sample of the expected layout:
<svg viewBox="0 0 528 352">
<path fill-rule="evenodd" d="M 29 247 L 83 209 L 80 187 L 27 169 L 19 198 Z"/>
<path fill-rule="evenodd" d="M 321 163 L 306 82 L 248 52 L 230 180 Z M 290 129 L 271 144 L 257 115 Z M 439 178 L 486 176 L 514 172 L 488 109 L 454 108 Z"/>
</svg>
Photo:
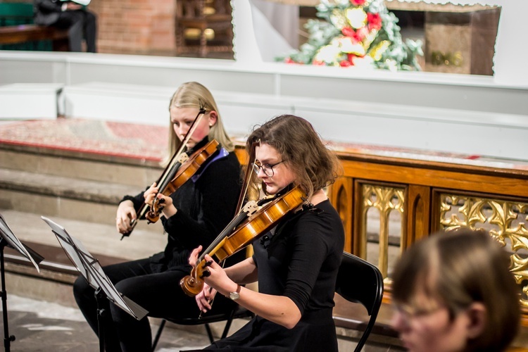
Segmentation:
<svg viewBox="0 0 528 352">
<path fill-rule="evenodd" d="M 293 329 L 256 316 L 210 351 L 337 351 L 332 308 L 344 248 L 339 214 L 326 200 L 281 220 L 253 242 L 258 291 L 284 295 L 301 310 Z"/>
</svg>

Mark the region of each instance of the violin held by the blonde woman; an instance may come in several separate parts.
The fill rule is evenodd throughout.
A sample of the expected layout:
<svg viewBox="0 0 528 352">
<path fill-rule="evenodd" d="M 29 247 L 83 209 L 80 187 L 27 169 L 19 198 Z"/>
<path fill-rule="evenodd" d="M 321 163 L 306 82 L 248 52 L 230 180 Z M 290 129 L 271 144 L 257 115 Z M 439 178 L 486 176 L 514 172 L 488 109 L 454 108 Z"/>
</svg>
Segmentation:
<svg viewBox="0 0 528 352">
<path fill-rule="evenodd" d="M 176 175 L 172 180 L 165 184 L 159 185 L 160 191 L 158 193 L 164 196 L 170 196 L 185 182 L 191 179 L 191 177 L 206 163 L 206 161 L 213 155 L 216 155 L 220 150 L 220 144 L 213 139 L 206 146 L 198 149 L 189 156 L 187 161 L 184 161 L 180 168 L 178 168 Z M 185 154 L 187 155 L 187 154 Z M 161 210 L 163 209 L 163 203 L 160 203 L 158 197 L 154 198 L 153 203 L 150 206 L 150 210 L 146 213 L 145 217 L 149 220 L 149 223 L 156 222 L 160 218 Z"/>
</svg>

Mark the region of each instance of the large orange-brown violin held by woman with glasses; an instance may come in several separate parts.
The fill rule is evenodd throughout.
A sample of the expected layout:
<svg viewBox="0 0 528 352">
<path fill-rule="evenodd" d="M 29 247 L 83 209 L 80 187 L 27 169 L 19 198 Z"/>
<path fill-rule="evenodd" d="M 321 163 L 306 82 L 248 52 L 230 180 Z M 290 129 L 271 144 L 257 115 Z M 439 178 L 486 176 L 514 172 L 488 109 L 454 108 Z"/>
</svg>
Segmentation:
<svg viewBox="0 0 528 352">
<path fill-rule="evenodd" d="M 232 223 L 213 241 L 213 244 L 199 257 L 196 267 L 180 280 L 180 287 L 188 296 L 196 296 L 203 289 L 203 272 L 206 270 L 205 256 L 216 256 L 218 260 L 225 260 L 248 244 L 259 239 L 268 230 L 274 227 L 284 215 L 298 208 L 306 201 L 306 194 L 296 186 L 286 194 L 272 199 L 262 208 L 253 212 L 244 222 L 234 230 Z M 225 232 L 228 232 L 226 235 Z"/>
</svg>

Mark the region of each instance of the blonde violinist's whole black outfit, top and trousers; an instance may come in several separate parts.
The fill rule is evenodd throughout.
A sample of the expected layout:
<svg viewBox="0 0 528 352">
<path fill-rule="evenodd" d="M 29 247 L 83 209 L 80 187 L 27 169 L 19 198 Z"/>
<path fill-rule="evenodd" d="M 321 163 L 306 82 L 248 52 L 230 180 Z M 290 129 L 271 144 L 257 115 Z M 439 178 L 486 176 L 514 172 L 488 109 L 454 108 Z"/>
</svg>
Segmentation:
<svg viewBox="0 0 528 352">
<path fill-rule="evenodd" d="M 207 139 L 189 151 L 201 148 Z M 214 158 L 214 157 L 213 157 Z M 197 317 L 199 308 L 193 297 L 184 294 L 180 279 L 191 272 L 189 254 L 202 245 L 205 249 L 234 217 L 241 189 L 240 164 L 234 153 L 216 158 L 199 170 L 197 180 L 189 180 L 171 198 L 177 213 L 161 217 L 168 237 L 165 250 L 150 258 L 108 265 L 103 268 L 120 293 L 132 299 L 156 318 Z M 197 176 L 197 175 L 195 175 Z M 125 196 L 136 210 L 144 203 L 143 193 Z M 132 233 L 132 237 L 134 234 Z M 130 239 L 132 240 L 132 239 Z M 244 251 L 226 260 L 230 265 L 244 259 Z M 98 329 L 94 289 L 83 277 L 73 287 L 75 300 L 95 332 Z M 231 308 L 234 302 L 218 297 L 211 313 Z M 106 351 L 150 351 L 149 320 L 135 320 L 124 310 L 110 304 L 110 314 L 103 322 Z M 214 312 L 213 312 L 214 311 Z"/>
</svg>

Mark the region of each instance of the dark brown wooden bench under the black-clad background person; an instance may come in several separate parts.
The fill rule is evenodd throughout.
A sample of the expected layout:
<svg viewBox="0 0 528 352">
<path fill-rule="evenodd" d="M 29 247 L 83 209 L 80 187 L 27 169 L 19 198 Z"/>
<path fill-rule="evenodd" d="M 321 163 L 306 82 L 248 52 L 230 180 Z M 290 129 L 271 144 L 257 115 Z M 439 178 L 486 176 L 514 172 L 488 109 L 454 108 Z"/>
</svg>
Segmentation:
<svg viewBox="0 0 528 352">
<path fill-rule="evenodd" d="M 68 30 L 41 25 L 0 27 L 0 44 L 19 44 L 39 40 L 51 40 L 54 51 L 69 51 Z"/>
</svg>

